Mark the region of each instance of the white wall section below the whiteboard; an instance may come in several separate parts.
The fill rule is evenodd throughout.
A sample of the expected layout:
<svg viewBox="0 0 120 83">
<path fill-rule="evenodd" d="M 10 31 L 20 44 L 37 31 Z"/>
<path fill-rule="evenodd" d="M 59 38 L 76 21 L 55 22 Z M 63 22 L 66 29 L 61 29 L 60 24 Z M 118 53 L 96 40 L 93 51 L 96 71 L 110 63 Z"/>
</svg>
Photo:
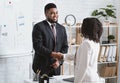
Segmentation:
<svg viewBox="0 0 120 83">
<path fill-rule="evenodd" d="M 23 83 L 29 79 L 31 55 L 0 58 L 0 83 Z"/>
</svg>

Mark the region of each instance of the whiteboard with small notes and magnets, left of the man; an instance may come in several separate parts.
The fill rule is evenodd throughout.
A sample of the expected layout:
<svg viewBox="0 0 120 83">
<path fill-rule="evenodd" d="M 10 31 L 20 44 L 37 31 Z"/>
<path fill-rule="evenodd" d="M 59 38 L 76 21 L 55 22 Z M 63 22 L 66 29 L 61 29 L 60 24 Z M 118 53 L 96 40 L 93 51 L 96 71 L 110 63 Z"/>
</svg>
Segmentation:
<svg viewBox="0 0 120 83">
<path fill-rule="evenodd" d="M 31 53 L 32 1 L 0 0 L 0 56 Z"/>
</svg>

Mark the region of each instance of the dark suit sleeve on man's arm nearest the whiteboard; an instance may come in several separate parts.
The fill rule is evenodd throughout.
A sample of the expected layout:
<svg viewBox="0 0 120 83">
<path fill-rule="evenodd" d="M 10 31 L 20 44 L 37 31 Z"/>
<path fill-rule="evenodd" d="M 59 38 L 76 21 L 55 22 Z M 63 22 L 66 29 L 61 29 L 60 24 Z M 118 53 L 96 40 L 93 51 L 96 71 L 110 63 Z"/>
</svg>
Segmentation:
<svg viewBox="0 0 120 83">
<path fill-rule="evenodd" d="M 43 35 L 41 27 L 36 24 L 32 32 L 33 48 L 36 52 L 40 52 L 42 55 L 50 55 L 52 50 L 49 50 L 43 45 Z"/>
</svg>

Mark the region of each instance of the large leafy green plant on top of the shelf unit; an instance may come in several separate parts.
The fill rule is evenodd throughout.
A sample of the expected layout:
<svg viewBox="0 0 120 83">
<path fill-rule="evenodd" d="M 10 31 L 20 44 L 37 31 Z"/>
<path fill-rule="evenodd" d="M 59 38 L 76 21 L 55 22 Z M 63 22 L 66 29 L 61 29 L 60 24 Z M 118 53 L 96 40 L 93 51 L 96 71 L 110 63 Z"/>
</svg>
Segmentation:
<svg viewBox="0 0 120 83">
<path fill-rule="evenodd" d="M 91 16 L 97 16 L 97 18 L 104 17 L 105 20 L 108 20 L 109 17 L 116 18 L 115 10 L 113 5 L 107 5 L 105 8 L 94 10 Z"/>
</svg>

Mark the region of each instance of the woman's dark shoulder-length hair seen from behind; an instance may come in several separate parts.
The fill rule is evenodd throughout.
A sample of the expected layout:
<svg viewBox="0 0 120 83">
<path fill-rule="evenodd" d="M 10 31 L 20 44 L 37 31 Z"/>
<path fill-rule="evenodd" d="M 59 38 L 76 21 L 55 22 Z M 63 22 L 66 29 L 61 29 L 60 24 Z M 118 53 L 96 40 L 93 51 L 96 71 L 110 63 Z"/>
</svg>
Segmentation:
<svg viewBox="0 0 120 83">
<path fill-rule="evenodd" d="M 81 32 L 84 38 L 100 42 L 103 32 L 102 23 L 97 18 L 85 18 L 82 23 Z"/>
</svg>

